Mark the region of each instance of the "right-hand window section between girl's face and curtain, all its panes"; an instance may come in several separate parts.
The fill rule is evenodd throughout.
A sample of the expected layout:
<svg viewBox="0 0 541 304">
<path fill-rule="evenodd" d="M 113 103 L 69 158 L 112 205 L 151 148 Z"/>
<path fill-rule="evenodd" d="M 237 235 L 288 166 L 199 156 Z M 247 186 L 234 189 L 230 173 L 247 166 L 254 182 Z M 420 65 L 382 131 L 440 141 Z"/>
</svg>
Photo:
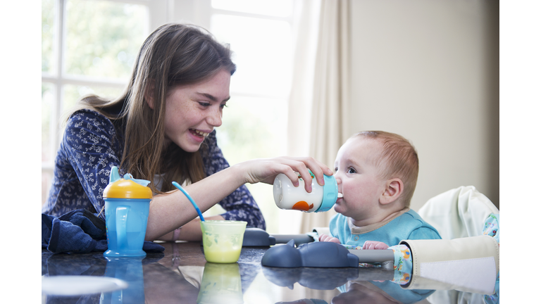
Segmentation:
<svg viewBox="0 0 541 304">
<path fill-rule="evenodd" d="M 293 58 L 292 1 L 213 0 L 210 32 L 230 44 L 237 72 L 231 100 L 218 128 L 218 145 L 230 165 L 285 155 L 287 99 Z M 272 186 L 247 184 L 266 219 L 279 233 Z"/>
</svg>

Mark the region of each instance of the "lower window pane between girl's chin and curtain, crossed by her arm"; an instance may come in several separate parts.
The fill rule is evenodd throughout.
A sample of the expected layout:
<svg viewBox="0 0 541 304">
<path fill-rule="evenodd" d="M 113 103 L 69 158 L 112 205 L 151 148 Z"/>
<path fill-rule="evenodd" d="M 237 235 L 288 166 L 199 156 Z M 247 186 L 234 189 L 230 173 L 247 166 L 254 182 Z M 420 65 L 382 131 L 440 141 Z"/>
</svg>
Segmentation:
<svg viewBox="0 0 541 304">
<path fill-rule="evenodd" d="M 253 158 L 285 155 L 287 109 L 285 99 L 261 99 L 232 96 L 223 110 L 223 124 L 217 129 L 218 146 L 230 165 Z M 256 199 L 267 230 L 278 232 L 278 208 L 273 200 L 273 186 L 247 184 Z"/>
</svg>

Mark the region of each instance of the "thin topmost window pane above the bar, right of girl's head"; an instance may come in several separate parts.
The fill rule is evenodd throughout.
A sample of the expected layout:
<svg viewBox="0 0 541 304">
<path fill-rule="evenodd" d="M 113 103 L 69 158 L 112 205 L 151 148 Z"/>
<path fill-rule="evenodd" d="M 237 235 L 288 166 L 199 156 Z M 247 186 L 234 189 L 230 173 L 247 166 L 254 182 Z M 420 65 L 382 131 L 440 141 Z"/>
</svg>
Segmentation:
<svg viewBox="0 0 541 304">
<path fill-rule="evenodd" d="M 292 6 L 292 0 L 212 0 L 213 8 L 277 17 L 290 16 Z"/>
</svg>

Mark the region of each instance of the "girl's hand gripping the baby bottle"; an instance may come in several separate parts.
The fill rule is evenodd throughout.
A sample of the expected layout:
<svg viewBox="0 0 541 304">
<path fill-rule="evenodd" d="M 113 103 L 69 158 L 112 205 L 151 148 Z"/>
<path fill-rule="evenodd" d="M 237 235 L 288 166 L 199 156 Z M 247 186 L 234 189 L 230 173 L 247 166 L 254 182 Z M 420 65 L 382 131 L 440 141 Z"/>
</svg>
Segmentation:
<svg viewBox="0 0 541 304">
<path fill-rule="evenodd" d="M 258 182 L 273 184 L 276 175 L 283 173 L 291 180 L 294 186 L 299 186 L 299 175 L 304 180 L 311 180 L 311 175 L 308 172 L 308 169 L 310 169 L 318 184 L 323 186 L 325 184 L 323 175 L 332 175 L 332 170 L 311 157 L 262 158 L 249 160 L 235 166 L 242 168 L 245 172 L 245 180 L 250 184 Z M 297 174 L 297 172 L 299 173 Z M 311 183 L 304 183 L 304 189 L 307 192 L 311 192 Z"/>
</svg>

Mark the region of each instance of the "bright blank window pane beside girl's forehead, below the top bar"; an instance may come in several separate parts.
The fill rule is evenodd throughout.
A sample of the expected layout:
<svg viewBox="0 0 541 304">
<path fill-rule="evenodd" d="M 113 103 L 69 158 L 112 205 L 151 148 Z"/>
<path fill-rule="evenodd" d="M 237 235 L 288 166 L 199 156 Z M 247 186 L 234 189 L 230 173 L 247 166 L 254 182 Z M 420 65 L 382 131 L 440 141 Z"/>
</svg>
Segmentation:
<svg viewBox="0 0 541 304">
<path fill-rule="evenodd" d="M 211 32 L 230 44 L 237 72 L 231 90 L 247 94 L 289 94 L 292 67 L 290 24 L 232 15 L 213 15 Z M 242 34 L 239 34 L 242 33 Z"/>
</svg>

